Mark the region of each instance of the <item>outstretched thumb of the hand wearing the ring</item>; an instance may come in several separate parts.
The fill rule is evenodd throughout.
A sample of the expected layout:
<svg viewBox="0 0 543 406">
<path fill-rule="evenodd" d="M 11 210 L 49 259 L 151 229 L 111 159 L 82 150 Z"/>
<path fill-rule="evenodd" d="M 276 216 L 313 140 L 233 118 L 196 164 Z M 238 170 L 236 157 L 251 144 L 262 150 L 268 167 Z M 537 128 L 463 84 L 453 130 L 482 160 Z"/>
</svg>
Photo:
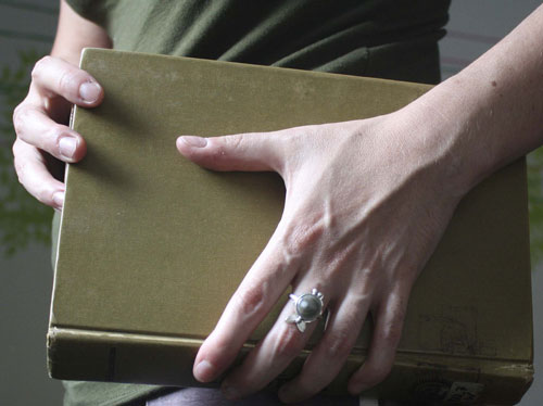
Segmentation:
<svg viewBox="0 0 543 406">
<path fill-rule="evenodd" d="M 279 132 L 212 138 L 182 136 L 176 145 L 187 158 L 209 169 L 280 172 L 285 147 Z"/>
</svg>

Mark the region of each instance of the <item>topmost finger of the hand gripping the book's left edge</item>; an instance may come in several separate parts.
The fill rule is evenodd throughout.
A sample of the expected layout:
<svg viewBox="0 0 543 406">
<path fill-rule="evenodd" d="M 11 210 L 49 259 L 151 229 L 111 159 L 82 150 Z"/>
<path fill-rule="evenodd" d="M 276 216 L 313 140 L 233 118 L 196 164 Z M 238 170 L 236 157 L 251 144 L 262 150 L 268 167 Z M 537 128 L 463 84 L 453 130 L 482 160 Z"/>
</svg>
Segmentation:
<svg viewBox="0 0 543 406">
<path fill-rule="evenodd" d="M 61 96 L 74 104 L 93 107 L 104 96 L 102 87 L 90 74 L 59 58 L 39 60 L 31 76 L 30 93 L 35 90 L 41 97 Z"/>
</svg>

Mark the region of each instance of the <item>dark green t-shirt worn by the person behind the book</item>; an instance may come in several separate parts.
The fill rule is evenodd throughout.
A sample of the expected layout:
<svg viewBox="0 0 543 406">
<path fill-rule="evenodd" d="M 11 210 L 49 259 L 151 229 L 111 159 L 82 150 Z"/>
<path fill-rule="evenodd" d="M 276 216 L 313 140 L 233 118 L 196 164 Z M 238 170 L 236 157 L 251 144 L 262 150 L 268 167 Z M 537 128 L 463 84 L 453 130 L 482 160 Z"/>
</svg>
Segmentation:
<svg viewBox="0 0 543 406">
<path fill-rule="evenodd" d="M 438 40 L 444 35 L 450 2 L 67 0 L 81 16 L 104 27 L 118 50 L 428 84 L 440 81 Z M 55 215 L 54 232 L 58 219 Z M 143 405 L 143 398 L 168 391 L 64 384 L 65 406 Z"/>
</svg>

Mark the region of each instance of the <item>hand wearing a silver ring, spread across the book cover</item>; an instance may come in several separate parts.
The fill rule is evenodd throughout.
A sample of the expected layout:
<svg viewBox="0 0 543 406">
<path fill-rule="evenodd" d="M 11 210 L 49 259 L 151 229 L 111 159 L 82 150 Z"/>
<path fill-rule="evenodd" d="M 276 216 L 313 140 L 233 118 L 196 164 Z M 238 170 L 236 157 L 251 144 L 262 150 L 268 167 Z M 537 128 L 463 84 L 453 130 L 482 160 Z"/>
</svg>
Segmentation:
<svg viewBox="0 0 543 406">
<path fill-rule="evenodd" d="M 366 120 L 267 134 L 181 137 L 189 160 L 216 170 L 275 170 L 287 188 L 282 218 L 269 243 L 202 344 L 193 373 L 216 379 L 251 332 L 292 286 L 318 289 L 330 310 L 326 332 L 303 370 L 279 391 L 299 402 L 338 375 L 368 314 L 369 354 L 349 382 L 358 394 L 391 370 L 413 283 L 440 240 L 462 193 L 446 182 L 446 153 L 402 111 Z M 422 142 L 422 137 L 425 142 Z M 451 187 L 446 186 L 451 185 Z M 223 382 L 230 398 L 264 388 L 301 352 L 304 333 L 285 319 Z"/>
</svg>

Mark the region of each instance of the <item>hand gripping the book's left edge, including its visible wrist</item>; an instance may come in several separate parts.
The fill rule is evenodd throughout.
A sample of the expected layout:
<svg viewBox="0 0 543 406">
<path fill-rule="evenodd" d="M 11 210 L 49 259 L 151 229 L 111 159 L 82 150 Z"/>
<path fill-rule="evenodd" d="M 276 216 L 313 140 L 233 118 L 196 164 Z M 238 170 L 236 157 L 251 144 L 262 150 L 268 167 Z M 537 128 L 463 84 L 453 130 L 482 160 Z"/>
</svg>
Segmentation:
<svg viewBox="0 0 543 406">
<path fill-rule="evenodd" d="M 65 187 L 51 174 L 52 157 L 73 163 L 86 153 L 83 137 L 66 126 L 72 104 L 94 107 L 104 97 L 100 85 L 77 67 L 85 47 L 111 48 L 111 40 L 104 29 L 61 1 L 51 55 L 36 63 L 28 94 L 13 112 L 18 180 L 37 200 L 55 210 L 62 210 Z"/>
</svg>

